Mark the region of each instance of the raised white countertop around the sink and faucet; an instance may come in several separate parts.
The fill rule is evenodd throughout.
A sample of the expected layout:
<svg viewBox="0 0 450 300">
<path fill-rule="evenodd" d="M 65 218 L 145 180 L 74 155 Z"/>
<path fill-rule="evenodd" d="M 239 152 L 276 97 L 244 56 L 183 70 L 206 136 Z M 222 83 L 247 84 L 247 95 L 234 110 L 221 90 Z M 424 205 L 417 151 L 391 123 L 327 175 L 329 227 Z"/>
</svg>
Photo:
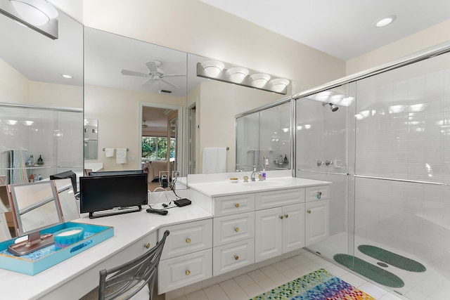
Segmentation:
<svg viewBox="0 0 450 300">
<path fill-rule="evenodd" d="M 188 183 L 188 187 L 209 197 L 218 197 L 286 188 L 303 188 L 307 186 L 325 184 L 330 184 L 330 182 L 290 176 L 267 178 L 265 181 L 250 181 L 249 178 L 248 182 L 243 182 L 243 178 L 240 176 L 238 182 L 231 182 L 228 180 L 212 181 L 207 183 Z"/>
</svg>

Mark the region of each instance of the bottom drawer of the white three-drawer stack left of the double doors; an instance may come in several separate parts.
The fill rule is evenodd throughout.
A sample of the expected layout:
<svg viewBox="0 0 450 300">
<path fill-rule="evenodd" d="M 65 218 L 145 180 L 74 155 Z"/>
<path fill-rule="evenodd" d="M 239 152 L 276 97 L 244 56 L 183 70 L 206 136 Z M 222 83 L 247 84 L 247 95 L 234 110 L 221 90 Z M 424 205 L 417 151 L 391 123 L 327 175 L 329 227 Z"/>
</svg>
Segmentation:
<svg viewBox="0 0 450 300">
<path fill-rule="evenodd" d="M 255 263 L 255 239 L 234 242 L 212 249 L 213 276 Z"/>
</svg>

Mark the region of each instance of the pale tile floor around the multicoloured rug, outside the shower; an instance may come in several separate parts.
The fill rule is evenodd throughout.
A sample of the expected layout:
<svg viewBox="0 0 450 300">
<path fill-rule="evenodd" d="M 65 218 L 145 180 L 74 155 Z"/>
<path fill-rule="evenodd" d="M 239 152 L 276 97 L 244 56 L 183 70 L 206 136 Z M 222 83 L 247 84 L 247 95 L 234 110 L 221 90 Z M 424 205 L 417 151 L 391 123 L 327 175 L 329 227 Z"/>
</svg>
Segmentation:
<svg viewBox="0 0 450 300">
<path fill-rule="evenodd" d="M 210 287 L 172 298 L 173 300 L 247 300 L 262 294 L 285 282 L 294 280 L 303 275 L 325 268 L 333 275 L 345 280 L 362 291 L 371 294 L 379 300 L 402 300 L 394 294 L 390 294 L 371 282 L 367 282 L 339 266 L 321 259 L 310 253 L 303 252 L 284 261 L 278 261 L 269 266 L 236 276 L 229 280 L 219 282 Z"/>
</svg>

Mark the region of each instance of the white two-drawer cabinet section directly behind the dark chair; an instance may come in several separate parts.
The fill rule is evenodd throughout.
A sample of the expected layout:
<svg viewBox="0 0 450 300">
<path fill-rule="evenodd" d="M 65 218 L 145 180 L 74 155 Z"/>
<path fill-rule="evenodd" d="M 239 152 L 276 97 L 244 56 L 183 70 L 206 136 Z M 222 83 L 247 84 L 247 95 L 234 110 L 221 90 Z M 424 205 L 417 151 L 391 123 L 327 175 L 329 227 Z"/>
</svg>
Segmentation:
<svg viewBox="0 0 450 300">
<path fill-rule="evenodd" d="M 158 268 L 158 293 L 212 277 L 212 219 L 164 226 L 166 239 Z"/>
</svg>

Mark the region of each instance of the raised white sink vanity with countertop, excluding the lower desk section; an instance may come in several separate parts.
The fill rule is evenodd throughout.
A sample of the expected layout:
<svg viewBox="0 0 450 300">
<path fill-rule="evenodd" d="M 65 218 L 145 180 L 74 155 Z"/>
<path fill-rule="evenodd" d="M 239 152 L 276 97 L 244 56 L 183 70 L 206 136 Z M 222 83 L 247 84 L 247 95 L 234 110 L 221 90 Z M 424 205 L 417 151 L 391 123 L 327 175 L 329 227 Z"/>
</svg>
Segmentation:
<svg viewBox="0 0 450 300">
<path fill-rule="evenodd" d="M 213 276 L 328 236 L 329 182 L 290 176 L 249 182 L 242 175 L 238 182 L 193 177 L 191 198 L 213 216 Z"/>
</svg>

